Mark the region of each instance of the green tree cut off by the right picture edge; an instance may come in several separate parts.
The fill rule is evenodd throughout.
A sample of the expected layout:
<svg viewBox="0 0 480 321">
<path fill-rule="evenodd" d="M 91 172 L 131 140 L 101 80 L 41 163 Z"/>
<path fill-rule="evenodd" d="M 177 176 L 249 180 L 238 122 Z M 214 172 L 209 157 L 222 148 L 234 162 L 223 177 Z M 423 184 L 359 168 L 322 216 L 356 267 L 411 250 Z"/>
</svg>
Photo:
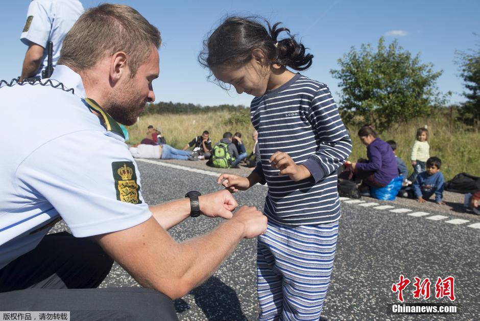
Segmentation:
<svg viewBox="0 0 480 321">
<path fill-rule="evenodd" d="M 457 52 L 460 66 L 460 77 L 465 81 L 464 86 L 468 92 L 463 93 L 467 101 L 459 109 L 460 118 L 475 130 L 480 129 L 480 45 L 478 49 L 469 52 Z"/>
</svg>

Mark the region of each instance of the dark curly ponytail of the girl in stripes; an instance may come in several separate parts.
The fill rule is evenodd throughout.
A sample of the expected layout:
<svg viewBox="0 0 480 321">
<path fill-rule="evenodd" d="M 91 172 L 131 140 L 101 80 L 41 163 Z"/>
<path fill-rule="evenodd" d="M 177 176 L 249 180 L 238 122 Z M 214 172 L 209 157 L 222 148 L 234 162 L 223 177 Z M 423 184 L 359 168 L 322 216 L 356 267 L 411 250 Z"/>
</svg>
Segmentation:
<svg viewBox="0 0 480 321">
<path fill-rule="evenodd" d="M 270 27 L 268 23 L 268 28 L 270 32 L 270 37 L 272 41 L 276 44 L 277 48 L 277 57 L 275 63 L 278 63 L 282 66 L 288 66 L 294 70 L 303 71 L 308 69 L 313 62 L 314 55 L 306 54 L 305 55 L 305 46 L 302 43 L 298 43 L 294 36 L 290 34 L 290 30 L 287 28 L 277 28 L 281 22 L 277 22 L 275 25 Z M 277 42 L 278 34 L 282 31 L 285 31 L 289 38 L 282 39 Z"/>
</svg>

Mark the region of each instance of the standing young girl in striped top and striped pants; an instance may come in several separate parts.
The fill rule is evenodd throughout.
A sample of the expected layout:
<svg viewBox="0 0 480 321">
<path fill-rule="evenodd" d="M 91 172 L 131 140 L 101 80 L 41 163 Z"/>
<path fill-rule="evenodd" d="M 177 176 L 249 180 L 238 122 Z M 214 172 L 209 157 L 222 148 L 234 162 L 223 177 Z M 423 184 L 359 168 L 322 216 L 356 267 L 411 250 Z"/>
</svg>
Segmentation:
<svg viewBox="0 0 480 321">
<path fill-rule="evenodd" d="M 328 87 L 288 69 L 305 70 L 313 55 L 279 23 L 267 25 L 230 17 L 199 56 L 220 84 L 255 96 L 261 162 L 248 177 L 222 174 L 218 183 L 232 192 L 269 187 L 268 229 L 257 243 L 259 319 L 318 319 L 337 245 L 337 169 L 352 146 Z"/>
</svg>

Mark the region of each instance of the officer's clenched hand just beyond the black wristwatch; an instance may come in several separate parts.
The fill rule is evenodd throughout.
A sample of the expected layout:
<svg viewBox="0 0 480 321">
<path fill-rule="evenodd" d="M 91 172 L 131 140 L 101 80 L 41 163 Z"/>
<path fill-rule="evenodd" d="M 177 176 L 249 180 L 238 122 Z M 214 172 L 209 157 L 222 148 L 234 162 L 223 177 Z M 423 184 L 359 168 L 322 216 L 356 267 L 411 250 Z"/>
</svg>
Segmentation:
<svg viewBox="0 0 480 321">
<path fill-rule="evenodd" d="M 238 203 L 232 194 L 226 190 L 199 196 L 200 211 L 208 217 L 232 217 L 232 211 Z"/>
</svg>

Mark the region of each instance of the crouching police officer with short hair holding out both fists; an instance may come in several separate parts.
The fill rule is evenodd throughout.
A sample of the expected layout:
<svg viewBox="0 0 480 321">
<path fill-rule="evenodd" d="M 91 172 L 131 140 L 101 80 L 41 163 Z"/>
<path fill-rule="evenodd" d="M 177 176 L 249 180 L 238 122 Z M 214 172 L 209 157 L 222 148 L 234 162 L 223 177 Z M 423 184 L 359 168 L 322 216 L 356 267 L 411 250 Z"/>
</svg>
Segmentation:
<svg viewBox="0 0 480 321">
<path fill-rule="evenodd" d="M 117 122 L 134 124 L 155 100 L 159 46 L 159 31 L 137 11 L 104 4 L 67 34 L 49 82 L 0 88 L 9 151 L 0 153 L 0 310 L 176 319 L 172 299 L 206 280 L 242 238 L 266 230 L 253 207 L 232 215 L 237 203 L 225 190 L 153 206 L 143 198 Z M 23 127 L 35 139 L 17 144 Z M 226 220 L 182 243 L 166 232 L 202 214 Z M 60 218 L 73 236 L 47 235 Z M 112 259 L 151 289 L 95 289 Z"/>
</svg>

